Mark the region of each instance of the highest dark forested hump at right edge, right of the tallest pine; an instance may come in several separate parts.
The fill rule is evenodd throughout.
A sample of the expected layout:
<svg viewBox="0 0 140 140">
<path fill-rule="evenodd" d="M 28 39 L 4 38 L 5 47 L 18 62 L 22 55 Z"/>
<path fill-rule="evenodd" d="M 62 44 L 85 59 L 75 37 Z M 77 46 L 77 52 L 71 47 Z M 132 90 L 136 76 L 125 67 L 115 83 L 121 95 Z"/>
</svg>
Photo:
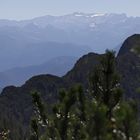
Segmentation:
<svg viewBox="0 0 140 140">
<path fill-rule="evenodd" d="M 122 87 L 127 97 L 140 97 L 137 89 L 140 87 L 140 35 L 135 34 L 126 39 L 117 56 L 117 65 L 121 74 Z"/>
</svg>

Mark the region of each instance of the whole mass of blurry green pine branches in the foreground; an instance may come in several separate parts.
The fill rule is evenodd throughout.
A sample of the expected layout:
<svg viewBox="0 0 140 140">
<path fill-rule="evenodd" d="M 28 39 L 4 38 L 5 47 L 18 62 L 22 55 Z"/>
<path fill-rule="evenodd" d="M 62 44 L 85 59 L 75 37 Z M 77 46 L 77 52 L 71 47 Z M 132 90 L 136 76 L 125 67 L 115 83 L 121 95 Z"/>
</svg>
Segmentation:
<svg viewBox="0 0 140 140">
<path fill-rule="evenodd" d="M 87 90 L 80 85 L 61 90 L 49 111 L 39 94 L 33 93 L 35 136 L 40 134 L 40 140 L 138 140 L 137 105 L 123 100 L 119 79 L 114 52 L 107 51 Z"/>
</svg>

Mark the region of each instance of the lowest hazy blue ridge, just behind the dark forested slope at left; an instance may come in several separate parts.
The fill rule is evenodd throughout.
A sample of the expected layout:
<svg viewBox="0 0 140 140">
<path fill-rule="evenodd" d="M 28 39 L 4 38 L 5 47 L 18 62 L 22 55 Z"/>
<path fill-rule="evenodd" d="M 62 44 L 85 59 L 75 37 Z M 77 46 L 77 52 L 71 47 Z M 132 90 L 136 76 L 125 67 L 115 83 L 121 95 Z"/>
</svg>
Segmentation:
<svg viewBox="0 0 140 140">
<path fill-rule="evenodd" d="M 18 67 L 0 72 L 0 87 L 15 85 L 21 86 L 26 80 L 34 75 L 53 74 L 63 76 L 75 64 L 77 57 L 60 56 L 40 64 L 27 67 Z"/>
</svg>

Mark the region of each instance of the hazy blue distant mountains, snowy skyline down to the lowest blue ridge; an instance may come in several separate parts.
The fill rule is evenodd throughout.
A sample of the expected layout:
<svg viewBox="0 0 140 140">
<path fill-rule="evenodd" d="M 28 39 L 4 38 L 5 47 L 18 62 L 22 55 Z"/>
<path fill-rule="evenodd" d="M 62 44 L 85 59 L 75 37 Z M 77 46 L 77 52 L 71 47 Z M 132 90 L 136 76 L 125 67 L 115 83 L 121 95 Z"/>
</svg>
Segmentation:
<svg viewBox="0 0 140 140">
<path fill-rule="evenodd" d="M 30 20 L 0 20 L 0 71 L 39 65 L 59 56 L 103 53 L 140 33 L 140 17 L 72 13 Z"/>
</svg>

